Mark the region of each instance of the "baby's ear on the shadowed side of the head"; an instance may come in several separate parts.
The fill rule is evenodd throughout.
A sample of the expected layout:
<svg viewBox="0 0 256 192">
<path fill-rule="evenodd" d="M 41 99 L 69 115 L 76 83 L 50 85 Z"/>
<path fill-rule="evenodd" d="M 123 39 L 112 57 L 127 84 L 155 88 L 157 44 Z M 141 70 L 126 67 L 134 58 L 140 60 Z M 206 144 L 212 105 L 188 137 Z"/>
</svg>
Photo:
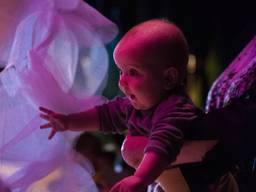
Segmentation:
<svg viewBox="0 0 256 192">
<path fill-rule="evenodd" d="M 169 67 L 164 71 L 165 89 L 170 90 L 178 83 L 178 70 L 174 67 Z"/>
</svg>

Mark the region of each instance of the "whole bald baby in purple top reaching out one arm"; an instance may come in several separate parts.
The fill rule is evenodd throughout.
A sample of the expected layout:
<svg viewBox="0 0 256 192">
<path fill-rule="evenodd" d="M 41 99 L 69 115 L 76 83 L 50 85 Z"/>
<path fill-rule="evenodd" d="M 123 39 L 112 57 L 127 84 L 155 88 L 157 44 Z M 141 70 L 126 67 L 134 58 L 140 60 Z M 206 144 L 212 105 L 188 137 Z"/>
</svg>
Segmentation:
<svg viewBox="0 0 256 192">
<path fill-rule="evenodd" d="M 188 45 L 180 29 L 154 19 L 130 29 L 114 50 L 124 97 L 75 114 L 40 107 L 41 118 L 58 131 L 102 131 L 148 137 L 136 171 L 111 192 L 145 191 L 174 162 L 201 111 L 185 93 Z"/>
</svg>

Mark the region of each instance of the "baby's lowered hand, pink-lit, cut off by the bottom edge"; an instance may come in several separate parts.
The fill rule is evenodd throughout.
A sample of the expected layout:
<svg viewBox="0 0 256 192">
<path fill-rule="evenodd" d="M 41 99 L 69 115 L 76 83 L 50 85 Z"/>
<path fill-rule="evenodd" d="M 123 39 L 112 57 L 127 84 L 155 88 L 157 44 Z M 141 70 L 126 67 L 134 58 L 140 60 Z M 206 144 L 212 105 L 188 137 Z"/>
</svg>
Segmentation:
<svg viewBox="0 0 256 192">
<path fill-rule="evenodd" d="M 115 184 L 110 192 L 144 192 L 146 189 L 147 185 L 145 185 L 143 179 L 132 175 Z"/>
</svg>

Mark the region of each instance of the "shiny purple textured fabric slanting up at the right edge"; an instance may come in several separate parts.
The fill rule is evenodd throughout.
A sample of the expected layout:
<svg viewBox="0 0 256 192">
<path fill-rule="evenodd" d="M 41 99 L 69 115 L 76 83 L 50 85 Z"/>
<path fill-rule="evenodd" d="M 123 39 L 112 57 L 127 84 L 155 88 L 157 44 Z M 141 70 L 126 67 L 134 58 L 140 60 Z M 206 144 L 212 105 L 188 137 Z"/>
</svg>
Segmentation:
<svg viewBox="0 0 256 192">
<path fill-rule="evenodd" d="M 224 107 L 232 99 L 256 93 L 256 36 L 213 83 L 206 111 Z M 252 94 L 251 94 L 252 95 Z"/>
</svg>

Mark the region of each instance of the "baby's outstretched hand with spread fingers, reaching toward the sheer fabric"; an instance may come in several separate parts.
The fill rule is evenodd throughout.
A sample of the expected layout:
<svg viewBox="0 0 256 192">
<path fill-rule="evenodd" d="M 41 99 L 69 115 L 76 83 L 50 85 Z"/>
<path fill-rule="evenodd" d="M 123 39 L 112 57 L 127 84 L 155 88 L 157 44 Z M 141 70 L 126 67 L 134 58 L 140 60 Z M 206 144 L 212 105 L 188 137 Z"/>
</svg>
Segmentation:
<svg viewBox="0 0 256 192">
<path fill-rule="evenodd" d="M 40 117 L 48 123 L 43 124 L 40 126 L 40 129 L 48 129 L 51 128 L 51 132 L 48 136 L 48 139 L 52 139 L 53 136 L 58 131 L 66 131 L 68 130 L 68 117 L 64 114 L 55 113 L 49 109 L 46 109 L 44 107 L 39 107 L 39 110 L 41 112 Z"/>
</svg>

